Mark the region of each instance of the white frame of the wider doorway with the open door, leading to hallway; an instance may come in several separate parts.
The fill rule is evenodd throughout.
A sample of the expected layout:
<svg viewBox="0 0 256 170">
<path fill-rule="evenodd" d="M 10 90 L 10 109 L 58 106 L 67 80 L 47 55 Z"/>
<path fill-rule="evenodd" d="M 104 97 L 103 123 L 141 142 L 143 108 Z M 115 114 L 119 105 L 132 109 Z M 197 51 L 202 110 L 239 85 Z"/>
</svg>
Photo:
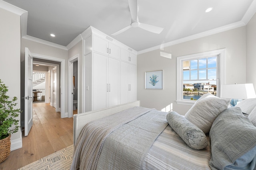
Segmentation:
<svg viewBox="0 0 256 170">
<path fill-rule="evenodd" d="M 61 88 L 60 88 L 60 90 L 57 91 L 57 92 L 59 92 L 59 95 L 60 95 L 60 103 L 57 104 L 58 107 L 56 107 L 56 111 L 60 111 L 61 118 L 68 117 L 68 115 L 66 115 L 66 113 L 65 113 L 65 96 L 66 96 L 66 94 L 65 94 L 65 88 L 66 88 L 65 87 L 65 66 L 66 66 L 65 59 L 60 59 L 60 58 L 55 58 L 55 57 L 50 57 L 50 56 L 45 56 L 45 55 L 39 55 L 39 54 L 35 54 L 35 53 L 31 53 L 31 55 L 32 55 L 32 57 L 37 58 L 37 59 L 44 59 L 44 60 L 49 60 L 49 61 L 60 62 L 60 70 L 61 70 L 60 87 Z M 57 74 L 57 75 L 59 75 L 59 74 Z M 58 89 L 58 87 L 57 87 L 57 89 Z M 57 98 L 57 100 L 59 100 L 59 98 Z"/>
</svg>

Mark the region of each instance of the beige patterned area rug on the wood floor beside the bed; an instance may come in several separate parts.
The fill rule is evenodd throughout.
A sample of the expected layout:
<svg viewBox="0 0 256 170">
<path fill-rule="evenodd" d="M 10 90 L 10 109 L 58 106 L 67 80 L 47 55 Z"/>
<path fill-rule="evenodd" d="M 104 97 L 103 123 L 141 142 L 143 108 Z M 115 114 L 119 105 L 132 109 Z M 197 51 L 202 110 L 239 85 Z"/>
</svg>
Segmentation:
<svg viewBox="0 0 256 170">
<path fill-rule="evenodd" d="M 70 170 L 73 150 L 74 147 L 71 145 L 18 170 Z"/>
</svg>

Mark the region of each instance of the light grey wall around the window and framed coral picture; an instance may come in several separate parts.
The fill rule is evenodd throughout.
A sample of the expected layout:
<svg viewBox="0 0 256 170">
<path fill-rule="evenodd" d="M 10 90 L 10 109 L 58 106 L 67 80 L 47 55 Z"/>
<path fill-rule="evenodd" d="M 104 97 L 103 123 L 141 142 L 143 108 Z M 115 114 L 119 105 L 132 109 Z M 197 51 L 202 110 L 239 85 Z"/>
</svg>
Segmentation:
<svg viewBox="0 0 256 170">
<path fill-rule="evenodd" d="M 138 55 L 137 99 L 141 106 L 158 110 L 170 106 L 184 115 L 191 106 L 176 103 L 176 57 L 223 48 L 226 48 L 224 84 L 246 83 L 246 26 L 165 47 L 172 59 L 160 57 L 160 49 Z M 145 71 L 150 70 L 163 70 L 163 90 L 145 89 Z"/>
</svg>

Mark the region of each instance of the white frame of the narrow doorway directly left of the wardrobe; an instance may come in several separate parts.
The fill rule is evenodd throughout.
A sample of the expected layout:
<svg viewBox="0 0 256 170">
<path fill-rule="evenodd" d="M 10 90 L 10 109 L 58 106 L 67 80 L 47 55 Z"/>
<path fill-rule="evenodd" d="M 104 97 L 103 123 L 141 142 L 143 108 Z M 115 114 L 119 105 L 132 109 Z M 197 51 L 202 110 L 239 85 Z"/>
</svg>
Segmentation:
<svg viewBox="0 0 256 170">
<path fill-rule="evenodd" d="M 79 54 L 68 59 L 68 117 L 73 117 L 73 63 L 77 61 L 77 113 L 80 111 L 80 74 L 79 74 Z"/>
</svg>

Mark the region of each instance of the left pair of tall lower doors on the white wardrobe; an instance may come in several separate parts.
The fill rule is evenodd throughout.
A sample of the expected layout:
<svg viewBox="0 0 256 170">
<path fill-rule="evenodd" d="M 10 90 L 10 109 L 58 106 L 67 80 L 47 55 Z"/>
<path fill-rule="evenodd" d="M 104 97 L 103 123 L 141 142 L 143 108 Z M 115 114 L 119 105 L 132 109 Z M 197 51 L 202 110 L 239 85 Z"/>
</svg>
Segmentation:
<svg viewBox="0 0 256 170">
<path fill-rule="evenodd" d="M 93 110 L 118 105 L 120 61 L 93 55 Z"/>
</svg>

